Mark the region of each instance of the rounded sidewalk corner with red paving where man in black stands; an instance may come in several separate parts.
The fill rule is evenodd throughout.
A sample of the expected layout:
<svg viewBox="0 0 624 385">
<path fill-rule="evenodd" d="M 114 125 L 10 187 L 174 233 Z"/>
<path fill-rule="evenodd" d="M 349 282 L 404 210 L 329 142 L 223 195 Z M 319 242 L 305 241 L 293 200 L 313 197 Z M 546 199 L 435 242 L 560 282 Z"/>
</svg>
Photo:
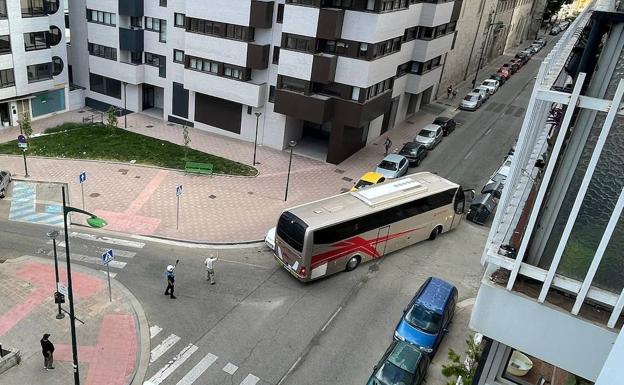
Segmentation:
<svg viewBox="0 0 624 385">
<path fill-rule="evenodd" d="M 66 286 L 66 270 L 59 266 Z M 85 385 L 140 384 L 149 360 L 149 327 L 141 305 L 116 280 L 109 302 L 106 276 L 73 265 L 72 281 L 80 380 Z M 21 363 L 0 375 L 3 385 L 73 383 L 69 316 L 57 320 L 54 304 L 54 265 L 24 256 L 0 265 L 0 338 L 2 345 L 19 349 Z M 68 303 L 63 307 L 69 309 Z M 51 334 L 55 345 L 54 370 L 43 368 L 39 340 Z"/>
</svg>

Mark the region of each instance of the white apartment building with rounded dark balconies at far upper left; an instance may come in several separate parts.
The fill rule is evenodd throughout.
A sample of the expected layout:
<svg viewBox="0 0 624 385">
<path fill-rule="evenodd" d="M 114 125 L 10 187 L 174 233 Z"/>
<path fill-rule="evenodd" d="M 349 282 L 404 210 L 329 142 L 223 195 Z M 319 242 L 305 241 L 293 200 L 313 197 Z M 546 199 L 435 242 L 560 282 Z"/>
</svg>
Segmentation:
<svg viewBox="0 0 624 385">
<path fill-rule="evenodd" d="M 66 63 L 60 0 L 0 0 L 0 129 L 65 111 Z"/>
</svg>

